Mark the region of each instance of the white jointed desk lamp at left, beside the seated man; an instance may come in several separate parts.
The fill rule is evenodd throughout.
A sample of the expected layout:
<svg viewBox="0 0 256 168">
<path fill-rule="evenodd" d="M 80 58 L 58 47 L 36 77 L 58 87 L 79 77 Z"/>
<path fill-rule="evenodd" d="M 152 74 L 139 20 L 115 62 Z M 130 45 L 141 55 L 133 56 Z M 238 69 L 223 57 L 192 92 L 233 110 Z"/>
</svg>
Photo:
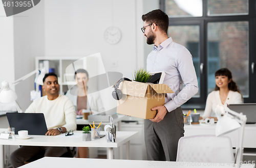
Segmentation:
<svg viewBox="0 0 256 168">
<path fill-rule="evenodd" d="M 39 70 L 34 70 L 34 71 L 28 73 L 27 75 L 15 80 L 14 82 L 11 83 L 11 85 L 15 86 L 19 82 L 27 79 L 28 77 L 30 77 L 33 74 L 36 74 L 35 83 L 38 85 L 44 85 L 44 83 L 42 83 L 42 79 L 44 78 L 45 73 L 46 72 L 44 69 L 40 72 L 40 74 L 39 74 Z M 2 86 L 0 86 L 0 89 L 3 89 L 2 92 L 0 92 L 0 102 L 9 103 L 9 102 L 12 102 L 17 99 L 17 94 L 12 89 L 10 89 L 8 81 L 6 81 L 6 80 L 3 81 Z M 22 113 L 22 109 L 20 109 L 20 107 L 16 101 L 15 101 L 15 106 L 17 108 L 17 111 L 19 113 Z"/>
</svg>

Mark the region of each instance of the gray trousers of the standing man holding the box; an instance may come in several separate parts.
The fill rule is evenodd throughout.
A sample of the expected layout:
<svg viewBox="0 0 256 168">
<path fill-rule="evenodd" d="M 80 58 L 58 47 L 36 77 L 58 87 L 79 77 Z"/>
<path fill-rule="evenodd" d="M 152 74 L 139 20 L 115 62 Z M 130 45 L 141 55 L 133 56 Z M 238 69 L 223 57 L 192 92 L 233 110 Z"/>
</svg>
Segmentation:
<svg viewBox="0 0 256 168">
<path fill-rule="evenodd" d="M 162 121 L 145 120 L 147 160 L 176 161 L 178 141 L 184 136 L 184 118 L 181 107 L 167 113 Z"/>
</svg>

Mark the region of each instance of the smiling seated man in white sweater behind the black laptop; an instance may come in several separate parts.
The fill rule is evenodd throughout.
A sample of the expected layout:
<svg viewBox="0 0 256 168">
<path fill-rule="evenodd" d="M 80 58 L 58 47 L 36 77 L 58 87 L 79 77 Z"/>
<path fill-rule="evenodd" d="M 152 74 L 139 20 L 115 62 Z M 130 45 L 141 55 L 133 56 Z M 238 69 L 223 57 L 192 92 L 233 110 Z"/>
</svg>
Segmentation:
<svg viewBox="0 0 256 168">
<path fill-rule="evenodd" d="M 46 96 L 35 99 L 25 113 L 44 113 L 48 131 L 46 135 L 58 135 L 76 129 L 76 112 L 72 101 L 59 95 L 58 78 L 55 73 L 45 75 L 42 89 Z M 24 165 L 34 155 L 44 152 L 44 156 L 60 157 L 68 152 L 67 147 L 36 147 L 22 146 L 14 151 L 11 156 L 12 167 Z"/>
</svg>

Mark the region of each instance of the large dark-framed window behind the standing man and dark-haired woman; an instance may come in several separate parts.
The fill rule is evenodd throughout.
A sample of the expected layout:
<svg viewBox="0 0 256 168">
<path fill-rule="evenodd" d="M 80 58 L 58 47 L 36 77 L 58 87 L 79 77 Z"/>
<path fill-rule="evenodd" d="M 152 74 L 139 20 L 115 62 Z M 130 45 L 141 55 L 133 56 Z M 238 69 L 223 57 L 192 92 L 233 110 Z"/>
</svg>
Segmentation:
<svg viewBox="0 0 256 168">
<path fill-rule="evenodd" d="M 169 16 L 168 36 L 193 55 L 198 77 L 199 93 L 183 108 L 204 109 L 215 88 L 215 72 L 224 67 L 232 72 L 244 102 L 256 102 L 256 0 L 160 0 L 160 4 Z"/>
</svg>

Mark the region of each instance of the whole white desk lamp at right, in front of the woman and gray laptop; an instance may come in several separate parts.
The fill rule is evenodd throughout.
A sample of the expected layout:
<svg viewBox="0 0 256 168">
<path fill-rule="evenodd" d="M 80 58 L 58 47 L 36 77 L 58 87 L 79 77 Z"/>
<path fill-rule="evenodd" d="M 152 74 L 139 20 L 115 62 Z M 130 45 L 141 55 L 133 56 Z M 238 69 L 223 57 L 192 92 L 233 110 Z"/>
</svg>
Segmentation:
<svg viewBox="0 0 256 168">
<path fill-rule="evenodd" d="M 235 162 L 237 163 L 237 167 L 240 167 L 240 162 L 243 161 L 243 138 L 244 138 L 244 127 L 246 124 L 246 116 L 243 113 L 237 113 L 236 111 L 232 111 L 228 107 L 224 105 L 218 105 L 215 109 L 215 113 L 218 118 L 218 122 L 216 125 L 216 136 L 225 135 L 229 132 L 242 128 L 242 132 L 240 135 L 239 148 L 236 149 Z"/>
</svg>

